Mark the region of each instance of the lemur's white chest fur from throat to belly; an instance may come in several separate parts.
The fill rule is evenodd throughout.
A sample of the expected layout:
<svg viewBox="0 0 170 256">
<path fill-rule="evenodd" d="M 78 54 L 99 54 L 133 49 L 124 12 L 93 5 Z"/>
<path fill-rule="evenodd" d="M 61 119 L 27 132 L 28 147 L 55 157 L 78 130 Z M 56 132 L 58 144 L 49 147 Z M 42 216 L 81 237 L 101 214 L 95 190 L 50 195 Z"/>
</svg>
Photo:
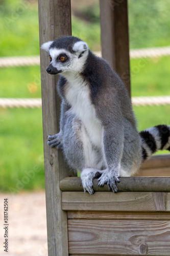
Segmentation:
<svg viewBox="0 0 170 256">
<path fill-rule="evenodd" d="M 77 117 L 83 122 L 87 134 L 91 142 L 95 146 L 102 146 L 102 125 L 96 118 L 94 106 L 90 100 L 90 89 L 88 82 L 83 78 L 74 74 L 68 76 L 65 87 L 65 96 L 71 105 L 71 112 L 76 114 Z"/>
</svg>

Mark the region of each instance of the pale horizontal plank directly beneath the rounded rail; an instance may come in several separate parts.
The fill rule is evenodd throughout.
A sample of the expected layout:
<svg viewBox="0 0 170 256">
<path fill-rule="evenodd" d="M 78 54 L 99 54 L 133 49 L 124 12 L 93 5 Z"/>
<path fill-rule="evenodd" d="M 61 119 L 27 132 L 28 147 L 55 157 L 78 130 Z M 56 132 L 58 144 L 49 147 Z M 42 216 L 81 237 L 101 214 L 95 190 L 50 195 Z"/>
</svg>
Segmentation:
<svg viewBox="0 0 170 256">
<path fill-rule="evenodd" d="M 62 192 L 63 210 L 165 211 L 165 193 L 152 192 Z"/>
</svg>

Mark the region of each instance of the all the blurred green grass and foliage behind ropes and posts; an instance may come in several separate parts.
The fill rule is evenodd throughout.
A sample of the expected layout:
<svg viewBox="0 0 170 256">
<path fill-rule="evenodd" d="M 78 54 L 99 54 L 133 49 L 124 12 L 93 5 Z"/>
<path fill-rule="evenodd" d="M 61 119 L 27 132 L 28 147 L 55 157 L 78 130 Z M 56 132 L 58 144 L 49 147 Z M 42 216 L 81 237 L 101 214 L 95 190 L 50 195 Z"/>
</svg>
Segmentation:
<svg viewBox="0 0 170 256">
<path fill-rule="evenodd" d="M 76 16 L 72 16 L 72 34 L 98 51 L 99 5 L 85 8 L 86 2 L 81 2 L 83 5 L 75 11 Z M 131 48 L 169 45 L 169 11 L 169 0 L 129 0 Z M 37 1 L 0 0 L 0 31 L 0 56 L 38 55 Z M 132 96 L 170 95 L 169 59 L 169 56 L 132 59 Z M 140 61 L 144 63 L 142 67 Z M 0 83 L 1 97 L 41 97 L 40 67 L 1 68 Z M 169 105 L 134 110 L 139 130 L 160 123 L 170 124 Z M 41 109 L 0 109 L 0 154 L 0 190 L 44 188 Z"/>
</svg>

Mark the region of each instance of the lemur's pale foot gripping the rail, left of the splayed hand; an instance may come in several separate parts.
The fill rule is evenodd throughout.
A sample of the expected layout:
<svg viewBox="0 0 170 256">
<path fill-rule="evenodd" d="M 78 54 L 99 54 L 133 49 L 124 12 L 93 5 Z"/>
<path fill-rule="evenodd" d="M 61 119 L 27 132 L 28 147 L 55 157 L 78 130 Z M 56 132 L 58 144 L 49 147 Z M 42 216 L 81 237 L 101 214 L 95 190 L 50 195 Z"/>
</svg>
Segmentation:
<svg viewBox="0 0 170 256">
<path fill-rule="evenodd" d="M 88 192 L 90 195 L 94 194 L 93 190 L 93 179 L 100 177 L 99 170 L 93 168 L 86 168 L 81 173 L 81 180 L 84 191 Z"/>
</svg>

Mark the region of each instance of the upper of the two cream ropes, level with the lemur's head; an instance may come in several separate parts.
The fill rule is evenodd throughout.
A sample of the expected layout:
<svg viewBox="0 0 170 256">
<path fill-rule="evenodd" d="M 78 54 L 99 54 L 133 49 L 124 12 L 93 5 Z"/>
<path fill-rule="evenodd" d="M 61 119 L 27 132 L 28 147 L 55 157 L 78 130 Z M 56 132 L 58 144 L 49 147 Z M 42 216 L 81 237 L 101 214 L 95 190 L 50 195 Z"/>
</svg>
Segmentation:
<svg viewBox="0 0 170 256">
<path fill-rule="evenodd" d="M 101 56 L 101 52 L 95 52 L 96 55 Z M 170 55 L 170 46 L 132 49 L 130 50 L 130 58 L 154 58 L 160 56 Z M 19 67 L 19 66 L 34 66 L 40 65 L 39 56 L 21 56 L 21 57 L 2 57 L 0 58 L 0 68 L 3 67 Z"/>
</svg>

